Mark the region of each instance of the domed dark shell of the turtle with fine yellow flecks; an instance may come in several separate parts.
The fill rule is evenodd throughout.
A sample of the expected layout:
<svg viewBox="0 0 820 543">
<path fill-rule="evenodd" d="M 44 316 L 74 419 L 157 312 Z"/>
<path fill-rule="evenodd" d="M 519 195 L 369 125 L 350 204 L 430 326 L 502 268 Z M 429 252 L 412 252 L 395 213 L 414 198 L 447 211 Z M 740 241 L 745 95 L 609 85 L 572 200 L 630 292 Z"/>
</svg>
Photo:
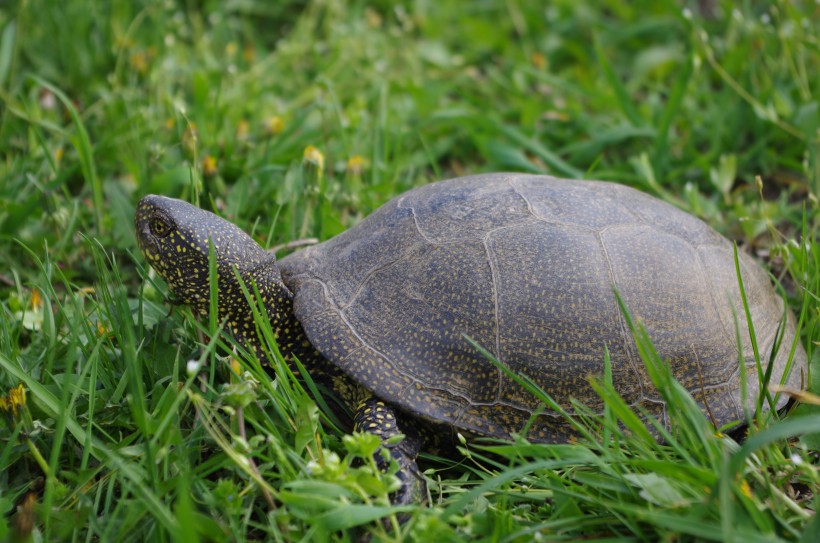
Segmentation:
<svg viewBox="0 0 820 543">
<path fill-rule="evenodd" d="M 764 359 L 786 315 L 772 377 L 779 382 L 794 319 L 767 274 L 739 258 Z M 621 185 L 520 174 L 434 183 L 280 266 L 314 347 L 383 400 L 454 431 L 508 437 L 539 407 L 466 337 L 570 412 L 573 398 L 602 407 L 589 380 L 602 375 L 608 349 L 621 396 L 666 421 L 615 289 L 718 424 L 743 418 L 758 394 L 732 244 Z M 800 386 L 799 346 L 793 364 L 788 384 Z M 546 411 L 528 437 L 570 434 Z"/>
</svg>

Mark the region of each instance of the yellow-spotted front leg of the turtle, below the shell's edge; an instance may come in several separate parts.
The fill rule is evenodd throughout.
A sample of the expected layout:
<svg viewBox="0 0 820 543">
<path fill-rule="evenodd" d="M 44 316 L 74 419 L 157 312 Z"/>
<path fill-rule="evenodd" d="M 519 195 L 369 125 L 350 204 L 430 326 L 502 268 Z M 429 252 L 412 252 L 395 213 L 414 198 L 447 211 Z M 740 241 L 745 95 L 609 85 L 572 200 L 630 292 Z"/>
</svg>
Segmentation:
<svg viewBox="0 0 820 543">
<path fill-rule="evenodd" d="M 401 487 L 390 497 L 393 505 L 421 502 L 427 493 L 424 475 L 416 464 L 422 440 L 413 432 L 405 433 L 399 429 L 394 408 L 375 396 L 369 396 L 356 409 L 353 429 L 357 432 L 368 432 L 379 436 L 382 447 L 387 449 L 390 456 L 398 462 L 399 471 L 396 477 L 401 481 Z M 390 438 L 402 433 L 404 433 L 404 439 L 399 443 L 387 443 Z M 381 471 L 387 471 L 390 461 L 384 457 L 382 451 L 376 451 L 373 456 L 378 468 Z"/>
</svg>

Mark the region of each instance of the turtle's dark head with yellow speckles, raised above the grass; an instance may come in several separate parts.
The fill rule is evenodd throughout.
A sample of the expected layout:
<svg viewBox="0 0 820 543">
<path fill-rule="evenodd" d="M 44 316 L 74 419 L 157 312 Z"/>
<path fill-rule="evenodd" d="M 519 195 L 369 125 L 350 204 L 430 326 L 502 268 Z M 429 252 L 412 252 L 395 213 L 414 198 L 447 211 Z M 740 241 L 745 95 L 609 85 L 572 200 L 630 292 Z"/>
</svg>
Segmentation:
<svg viewBox="0 0 820 543">
<path fill-rule="evenodd" d="M 137 243 L 146 260 L 168 283 L 179 301 L 207 313 L 210 307 L 209 246 L 213 243 L 219 278 L 219 313 L 250 313 L 239 288 L 239 272 L 248 288 L 254 280 L 281 282 L 271 253 L 236 225 L 182 200 L 145 196 L 134 217 Z"/>
</svg>

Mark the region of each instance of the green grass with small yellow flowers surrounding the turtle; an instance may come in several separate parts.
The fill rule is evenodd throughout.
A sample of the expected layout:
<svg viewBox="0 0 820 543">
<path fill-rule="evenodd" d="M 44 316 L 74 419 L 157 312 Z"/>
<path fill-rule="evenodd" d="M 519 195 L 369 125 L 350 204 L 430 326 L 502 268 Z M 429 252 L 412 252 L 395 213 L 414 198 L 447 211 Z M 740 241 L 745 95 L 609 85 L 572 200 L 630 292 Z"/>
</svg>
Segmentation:
<svg viewBox="0 0 820 543">
<path fill-rule="evenodd" d="M 168 315 L 132 217 L 142 194 L 187 198 L 275 246 L 435 179 L 616 180 L 761 257 L 816 366 L 817 9 L 3 5 L 0 391 L 26 404 L 0 420 L 0 539 L 815 541 L 820 415 L 716 434 L 640 329 L 676 406 L 664 444 L 604 378 L 575 443 L 425 458 L 429 505 L 398 527 L 395 481 L 355 462 L 371 441 L 281 361 L 232 373 L 219 323 Z"/>
</svg>

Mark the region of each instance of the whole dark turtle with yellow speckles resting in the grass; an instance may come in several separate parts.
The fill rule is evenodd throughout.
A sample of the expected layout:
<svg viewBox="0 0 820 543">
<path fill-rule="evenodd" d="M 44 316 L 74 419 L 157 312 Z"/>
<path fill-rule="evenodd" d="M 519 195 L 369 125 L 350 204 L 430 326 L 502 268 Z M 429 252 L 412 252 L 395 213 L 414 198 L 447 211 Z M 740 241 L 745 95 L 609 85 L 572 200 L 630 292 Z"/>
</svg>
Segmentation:
<svg viewBox="0 0 820 543">
<path fill-rule="evenodd" d="M 212 243 L 219 319 L 264 358 L 237 277 L 256 286 L 285 358 L 349 406 L 355 430 L 379 436 L 389 453 L 378 455 L 380 468 L 398 462 L 395 503 L 423 492 L 418 453 L 459 434 L 573 438 L 567 418 L 511 373 L 570 416 L 573 399 L 600 410 L 590 378 L 603 373 L 607 351 L 615 390 L 668 424 L 618 297 L 717 426 L 743 419 L 759 393 L 749 334 L 736 332 L 748 325 L 733 244 L 624 185 L 515 173 L 435 182 L 281 260 L 181 200 L 145 196 L 135 226 L 148 263 L 203 314 Z M 794 317 L 769 276 L 743 252 L 738 264 L 760 352 L 778 338 L 791 346 Z M 799 342 L 789 351 L 773 355 L 771 382 L 799 388 L 806 353 Z"/>
</svg>

